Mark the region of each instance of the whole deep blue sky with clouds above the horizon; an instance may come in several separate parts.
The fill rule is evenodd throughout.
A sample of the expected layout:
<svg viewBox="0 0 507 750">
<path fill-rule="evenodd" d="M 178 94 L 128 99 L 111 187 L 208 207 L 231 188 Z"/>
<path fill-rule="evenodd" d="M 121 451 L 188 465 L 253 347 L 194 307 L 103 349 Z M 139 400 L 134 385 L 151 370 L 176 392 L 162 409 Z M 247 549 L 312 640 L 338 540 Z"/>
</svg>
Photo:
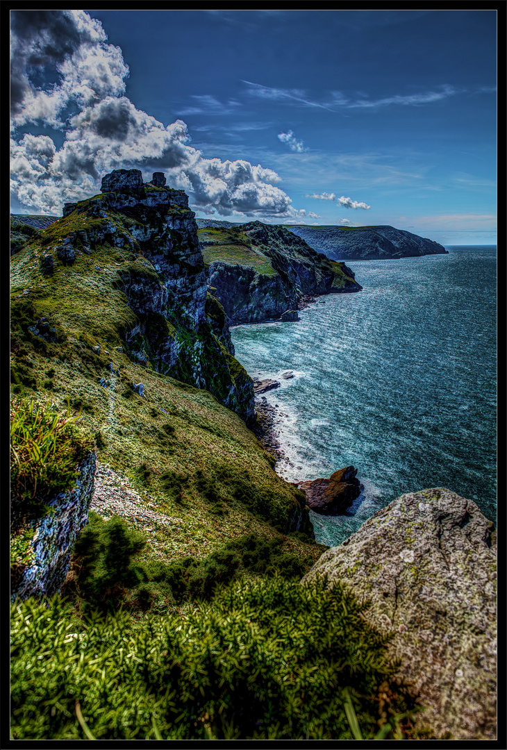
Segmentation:
<svg viewBox="0 0 507 750">
<path fill-rule="evenodd" d="M 11 10 L 12 213 L 113 169 L 196 217 L 496 243 L 496 10 Z"/>
</svg>

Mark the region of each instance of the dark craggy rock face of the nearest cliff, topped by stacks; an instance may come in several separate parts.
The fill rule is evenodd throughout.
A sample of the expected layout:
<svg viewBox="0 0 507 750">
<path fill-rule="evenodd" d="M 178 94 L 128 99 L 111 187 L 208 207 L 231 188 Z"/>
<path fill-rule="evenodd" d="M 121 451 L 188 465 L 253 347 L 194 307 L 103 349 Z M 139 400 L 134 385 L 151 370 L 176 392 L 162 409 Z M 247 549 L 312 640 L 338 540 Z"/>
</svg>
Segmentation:
<svg viewBox="0 0 507 750">
<path fill-rule="evenodd" d="M 102 180 L 102 193 L 67 203 L 48 232 L 41 268 L 72 265 L 96 248 L 127 249 L 117 288 L 135 314 L 124 330 L 134 362 L 209 390 L 243 419 L 254 416 L 251 379 L 233 357 L 220 303 L 207 291 L 195 214 L 183 190 L 166 187 L 159 172 L 143 183 L 138 169 L 118 169 Z M 223 319 L 223 320 L 222 320 Z"/>
</svg>

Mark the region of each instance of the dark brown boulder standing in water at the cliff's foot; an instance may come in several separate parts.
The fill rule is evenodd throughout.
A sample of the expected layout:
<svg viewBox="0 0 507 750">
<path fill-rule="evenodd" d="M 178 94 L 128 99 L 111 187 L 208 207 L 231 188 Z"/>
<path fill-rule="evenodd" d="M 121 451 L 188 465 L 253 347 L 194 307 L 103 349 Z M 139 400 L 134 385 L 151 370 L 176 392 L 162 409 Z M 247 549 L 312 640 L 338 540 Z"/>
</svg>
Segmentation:
<svg viewBox="0 0 507 750">
<path fill-rule="evenodd" d="M 359 497 L 362 484 L 356 478 L 357 469 L 346 466 L 329 479 L 304 481 L 299 485 L 305 491 L 309 508 L 323 515 L 340 515 Z"/>
</svg>

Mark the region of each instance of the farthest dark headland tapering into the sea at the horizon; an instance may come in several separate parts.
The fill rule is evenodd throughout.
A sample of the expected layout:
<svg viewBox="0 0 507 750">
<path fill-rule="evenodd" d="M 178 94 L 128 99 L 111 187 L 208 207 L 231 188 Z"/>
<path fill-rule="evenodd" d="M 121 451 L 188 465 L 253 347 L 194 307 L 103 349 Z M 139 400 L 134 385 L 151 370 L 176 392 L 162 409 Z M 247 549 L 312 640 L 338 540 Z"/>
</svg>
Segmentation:
<svg viewBox="0 0 507 750">
<path fill-rule="evenodd" d="M 290 226 L 311 248 L 334 260 L 386 260 L 446 254 L 431 239 L 394 226 Z"/>
</svg>

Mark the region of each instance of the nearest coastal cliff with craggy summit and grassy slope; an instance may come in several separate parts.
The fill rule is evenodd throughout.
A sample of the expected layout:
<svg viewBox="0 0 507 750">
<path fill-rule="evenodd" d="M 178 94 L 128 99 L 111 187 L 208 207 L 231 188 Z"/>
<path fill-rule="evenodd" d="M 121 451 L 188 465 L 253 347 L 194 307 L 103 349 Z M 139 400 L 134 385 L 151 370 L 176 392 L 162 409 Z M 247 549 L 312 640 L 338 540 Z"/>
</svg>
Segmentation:
<svg viewBox="0 0 507 750">
<path fill-rule="evenodd" d="M 101 460 L 183 514 L 175 551 L 266 526 L 311 532 L 303 493 L 245 424 L 253 383 L 208 293 L 185 193 L 117 170 L 64 214 L 10 260 L 13 392 L 80 415 Z"/>
</svg>

